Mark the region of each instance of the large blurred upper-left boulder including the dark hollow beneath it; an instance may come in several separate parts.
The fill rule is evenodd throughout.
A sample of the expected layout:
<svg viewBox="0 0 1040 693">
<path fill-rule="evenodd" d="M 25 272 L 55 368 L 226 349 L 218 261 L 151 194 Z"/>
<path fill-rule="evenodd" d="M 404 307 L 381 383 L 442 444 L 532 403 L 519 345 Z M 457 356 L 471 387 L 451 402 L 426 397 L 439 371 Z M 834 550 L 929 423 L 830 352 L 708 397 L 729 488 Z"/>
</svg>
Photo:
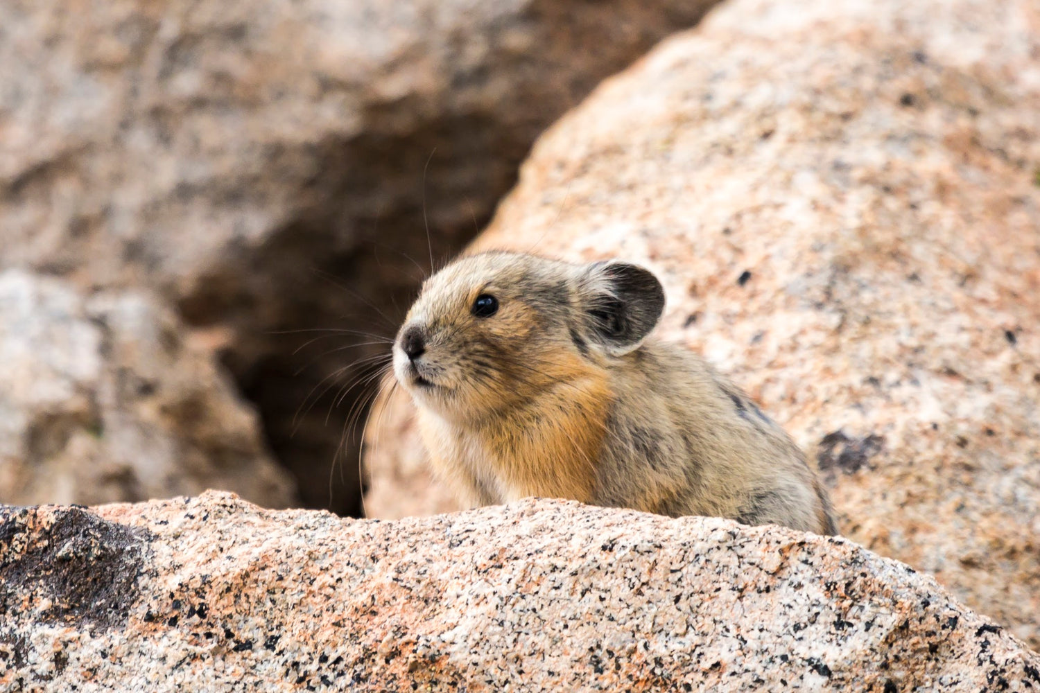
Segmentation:
<svg viewBox="0 0 1040 693">
<path fill-rule="evenodd" d="M 4 2 L 0 267 L 158 287 L 214 326 L 327 504 L 353 393 L 326 418 L 368 353 L 346 345 L 371 340 L 294 354 L 313 335 L 274 332 L 392 332 L 380 312 L 426 266 L 425 219 L 433 254 L 458 249 L 542 129 L 712 2 Z"/>
</svg>

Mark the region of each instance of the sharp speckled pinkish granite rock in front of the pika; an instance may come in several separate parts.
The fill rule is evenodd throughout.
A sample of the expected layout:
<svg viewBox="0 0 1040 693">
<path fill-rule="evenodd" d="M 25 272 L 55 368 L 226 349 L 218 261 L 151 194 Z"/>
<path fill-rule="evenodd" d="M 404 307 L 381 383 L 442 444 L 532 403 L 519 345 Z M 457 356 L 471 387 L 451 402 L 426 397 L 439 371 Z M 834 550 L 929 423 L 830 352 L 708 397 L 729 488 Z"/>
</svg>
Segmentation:
<svg viewBox="0 0 1040 693">
<path fill-rule="evenodd" d="M 212 492 L 2 518 L 5 690 L 1040 689 L 1040 656 L 932 578 L 780 528 Z"/>
</svg>

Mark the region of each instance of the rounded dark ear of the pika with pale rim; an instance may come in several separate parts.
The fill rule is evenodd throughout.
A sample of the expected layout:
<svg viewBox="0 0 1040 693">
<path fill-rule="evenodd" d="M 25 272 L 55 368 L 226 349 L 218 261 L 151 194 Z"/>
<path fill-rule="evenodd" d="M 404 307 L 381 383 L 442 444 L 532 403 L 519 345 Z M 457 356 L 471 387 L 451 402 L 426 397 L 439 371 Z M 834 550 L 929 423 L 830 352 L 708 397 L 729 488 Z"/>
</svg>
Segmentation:
<svg viewBox="0 0 1040 693">
<path fill-rule="evenodd" d="M 627 262 L 595 262 L 578 282 L 586 332 L 615 356 L 636 348 L 665 311 L 665 289 L 653 273 Z"/>
</svg>

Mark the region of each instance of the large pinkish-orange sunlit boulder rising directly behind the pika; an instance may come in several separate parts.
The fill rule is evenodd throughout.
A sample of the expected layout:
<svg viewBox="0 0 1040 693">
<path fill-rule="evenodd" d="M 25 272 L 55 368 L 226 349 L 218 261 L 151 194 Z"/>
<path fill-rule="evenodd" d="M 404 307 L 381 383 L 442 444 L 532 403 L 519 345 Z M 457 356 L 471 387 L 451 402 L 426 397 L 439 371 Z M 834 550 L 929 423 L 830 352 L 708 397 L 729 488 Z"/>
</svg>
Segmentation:
<svg viewBox="0 0 1040 693">
<path fill-rule="evenodd" d="M 660 335 L 810 452 L 843 534 L 1040 647 L 1038 170 L 1036 3 L 733 0 L 554 126 L 478 246 L 655 270 Z M 379 487 L 418 446 L 383 421 L 369 512 L 441 503 Z"/>
</svg>

